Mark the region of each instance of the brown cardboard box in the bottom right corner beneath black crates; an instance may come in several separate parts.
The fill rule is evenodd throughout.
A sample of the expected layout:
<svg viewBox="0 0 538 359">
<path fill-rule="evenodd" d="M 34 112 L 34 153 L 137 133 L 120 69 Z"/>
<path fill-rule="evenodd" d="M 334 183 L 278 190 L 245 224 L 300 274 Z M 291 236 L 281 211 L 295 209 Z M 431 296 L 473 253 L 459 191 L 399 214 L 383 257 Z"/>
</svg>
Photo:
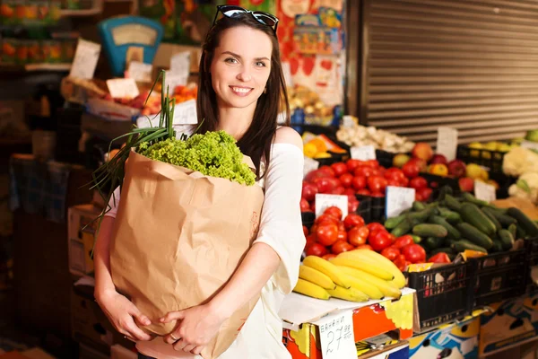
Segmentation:
<svg viewBox="0 0 538 359">
<path fill-rule="evenodd" d="M 490 305 L 481 317 L 480 355 L 538 340 L 538 291 Z"/>
</svg>

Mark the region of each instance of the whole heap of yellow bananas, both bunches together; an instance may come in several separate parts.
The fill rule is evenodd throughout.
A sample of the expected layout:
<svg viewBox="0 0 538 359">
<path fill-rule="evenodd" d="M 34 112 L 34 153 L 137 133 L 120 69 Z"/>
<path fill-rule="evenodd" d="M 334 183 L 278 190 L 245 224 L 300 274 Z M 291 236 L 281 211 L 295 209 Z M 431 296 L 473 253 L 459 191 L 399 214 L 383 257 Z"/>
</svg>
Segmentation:
<svg viewBox="0 0 538 359">
<path fill-rule="evenodd" d="M 404 275 L 390 260 L 372 250 L 352 250 L 330 260 L 305 258 L 293 291 L 323 300 L 367 302 L 399 299 L 404 286 Z"/>
</svg>

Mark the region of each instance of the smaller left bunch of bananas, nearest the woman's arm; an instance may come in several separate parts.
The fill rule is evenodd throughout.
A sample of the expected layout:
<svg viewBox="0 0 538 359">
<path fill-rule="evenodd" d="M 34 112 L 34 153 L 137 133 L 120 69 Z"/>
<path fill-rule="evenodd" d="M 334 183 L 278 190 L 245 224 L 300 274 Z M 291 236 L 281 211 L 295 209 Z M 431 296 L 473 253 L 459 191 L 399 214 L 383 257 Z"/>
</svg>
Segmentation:
<svg viewBox="0 0 538 359">
<path fill-rule="evenodd" d="M 354 283 L 360 281 L 346 275 L 324 258 L 308 256 L 299 267 L 299 281 L 293 291 L 317 299 L 334 297 L 351 302 L 367 302 L 369 294 L 361 291 Z"/>
</svg>

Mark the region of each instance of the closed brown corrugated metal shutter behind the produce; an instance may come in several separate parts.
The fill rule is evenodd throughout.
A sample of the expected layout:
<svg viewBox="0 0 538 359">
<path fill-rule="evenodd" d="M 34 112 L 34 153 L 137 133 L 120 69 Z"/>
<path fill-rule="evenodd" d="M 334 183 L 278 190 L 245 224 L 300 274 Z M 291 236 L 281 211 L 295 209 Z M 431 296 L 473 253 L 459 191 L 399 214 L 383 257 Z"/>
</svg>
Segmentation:
<svg viewBox="0 0 538 359">
<path fill-rule="evenodd" d="M 365 0 L 361 118 L 434 144 L 538 128 L 538 1 Z"/>
</svg>

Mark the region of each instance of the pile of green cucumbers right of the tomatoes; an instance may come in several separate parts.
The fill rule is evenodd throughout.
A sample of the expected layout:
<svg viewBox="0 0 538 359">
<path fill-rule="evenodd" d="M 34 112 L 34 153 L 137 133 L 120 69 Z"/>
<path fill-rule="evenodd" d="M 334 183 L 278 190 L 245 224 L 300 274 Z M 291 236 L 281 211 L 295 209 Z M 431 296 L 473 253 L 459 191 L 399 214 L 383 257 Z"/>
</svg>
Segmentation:
<svg viewBox="0 0 538 359">
<path fill-rule="evenodd" d="M 441 188 L 439 197 L 428 205 L 415 202 L 401 215 L 386 220 L 395 237 L 412 234 L 428 258 L 474 250 L 494 253 L 513 248 L 516 239 L 538 235 L 538 225 L 521 210 L 501 209 L 470 193 L 454 197 L 452 189 Z"/>
</svg>

